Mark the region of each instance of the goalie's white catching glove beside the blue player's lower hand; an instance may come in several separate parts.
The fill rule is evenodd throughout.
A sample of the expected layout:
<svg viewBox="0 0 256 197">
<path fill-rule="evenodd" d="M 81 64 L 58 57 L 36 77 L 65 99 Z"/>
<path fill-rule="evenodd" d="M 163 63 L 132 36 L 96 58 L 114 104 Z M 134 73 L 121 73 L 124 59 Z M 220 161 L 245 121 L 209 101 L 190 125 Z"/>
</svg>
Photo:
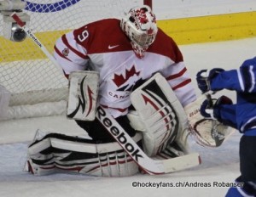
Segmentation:
<svg viewBox="0 0 256 197">
<path fill-rule="evenodd" d="M 203 94 L 195 102 L 185 106 L 184 109 L 189 119 L 189 130 L 198 144 L 205 147 L 218 147 L 235 131 L 218 121 L 218 110 L 214 110 L 214 106 L 216 107 L 224 100 L 230 102 L 229 99 L 222 97 L 217 101 L 214 100 L 211 104 L 212 101 Z"/>
</svg>

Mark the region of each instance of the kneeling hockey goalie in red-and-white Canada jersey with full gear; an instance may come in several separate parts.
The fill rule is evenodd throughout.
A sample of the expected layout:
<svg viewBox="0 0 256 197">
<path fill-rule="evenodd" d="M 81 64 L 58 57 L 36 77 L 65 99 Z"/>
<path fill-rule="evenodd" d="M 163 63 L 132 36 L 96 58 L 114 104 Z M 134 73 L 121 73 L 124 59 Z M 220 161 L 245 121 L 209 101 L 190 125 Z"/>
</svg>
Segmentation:
<svg viewBox="0 0 256 197">
<path fill-rule="evenodd" d="M 148 6 L 64 34 L 55 43 L 55 59 L 69 79 L 67 117 L 90 138 L 38 131 L 28 147 L 26 171 L 123 177 L 144 171 L 152 161 L 142 164 L 145 158 L 154 158 L 157 167 L 171 158 L 169 165 L 177 164 L 172 171 L 200 163 L 198 155 L 186 156 L 189 122 L 194 129 L 202 117 L 197 113 L 188 120 L 187 114 L 199 103 L 182 53 L 157 27 Z M 206 134 L 204 143 L 216 146 L 212 125 L 207 132 L 196 128 L 195 135 Z"/>
</svg>

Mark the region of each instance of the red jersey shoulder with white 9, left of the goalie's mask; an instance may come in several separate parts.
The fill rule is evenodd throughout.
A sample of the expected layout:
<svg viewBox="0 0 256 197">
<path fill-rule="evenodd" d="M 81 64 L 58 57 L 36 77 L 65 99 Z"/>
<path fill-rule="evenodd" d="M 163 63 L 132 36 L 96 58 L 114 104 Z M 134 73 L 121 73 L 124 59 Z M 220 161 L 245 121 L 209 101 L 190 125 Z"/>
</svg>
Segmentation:
<svg viewBox="0 0 256 197">
<path fill-rule="evenodd" d="M 118 19 L 97 20 L 73 32 L 77 42 L 86 48 L 88 54 L 131 50 L 129 39 L 121 30 Z M 84 39 L 80 39 L 83 35 Z"/>
</svg>

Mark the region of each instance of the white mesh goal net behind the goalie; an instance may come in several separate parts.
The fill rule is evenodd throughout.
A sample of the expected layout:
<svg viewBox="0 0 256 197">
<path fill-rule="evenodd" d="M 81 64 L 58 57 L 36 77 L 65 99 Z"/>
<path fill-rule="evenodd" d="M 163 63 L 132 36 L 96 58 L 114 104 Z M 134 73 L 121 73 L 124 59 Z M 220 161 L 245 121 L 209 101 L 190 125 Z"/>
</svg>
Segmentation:
<svg viewBox="0 0 256 197">
<path fill-rule="evenodd" d="M 127 8 L 143 4 L 142 0 L 23 1 L 29 28 L 50 53 L 63 33 L 91 21 L 119 18 Z M 11 93 L 8 113 L 1 119 L 64 114 L 67 79 L 30 38 L 23 42 L 4 38 L 1 14 L 0 46 L 0 85 Z"/>
</svg>

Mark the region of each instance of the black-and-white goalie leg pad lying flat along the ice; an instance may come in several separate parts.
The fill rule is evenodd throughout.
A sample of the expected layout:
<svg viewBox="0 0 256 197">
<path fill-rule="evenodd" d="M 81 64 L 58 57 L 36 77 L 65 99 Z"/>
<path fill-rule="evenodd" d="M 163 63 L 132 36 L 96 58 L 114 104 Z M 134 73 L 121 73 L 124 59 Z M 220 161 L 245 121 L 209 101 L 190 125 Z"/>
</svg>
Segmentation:
<svg viewBox="0 0 256 197">
<path fill-rule="evenodd" d="M 139 133 L 134 140 L 141 140 Z M 136 174 L 138 166 L 118 143 L 94 144 L 89 139 L 49 133 L 29 146 L 25 170 L 35 175 L 76 172 L 125 177 Z"/>
</svg>

